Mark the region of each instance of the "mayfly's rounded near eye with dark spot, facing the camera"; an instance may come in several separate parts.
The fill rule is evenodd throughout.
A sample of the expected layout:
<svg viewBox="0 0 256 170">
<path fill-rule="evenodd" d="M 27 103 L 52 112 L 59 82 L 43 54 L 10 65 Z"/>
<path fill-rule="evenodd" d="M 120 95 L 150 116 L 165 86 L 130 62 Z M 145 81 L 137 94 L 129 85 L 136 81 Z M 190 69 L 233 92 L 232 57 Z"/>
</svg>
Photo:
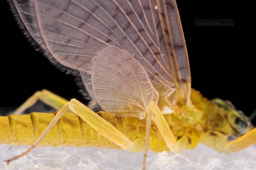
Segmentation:
<svg viewBox="0 0 256 170">
<path fill-rule="evenodd" d="M 239 111 L 230 111 L 228 113 L 228 123 L 235 133 L 242 135 L 247 129 L 247 120 L 245 115 Z"/>
</svg>

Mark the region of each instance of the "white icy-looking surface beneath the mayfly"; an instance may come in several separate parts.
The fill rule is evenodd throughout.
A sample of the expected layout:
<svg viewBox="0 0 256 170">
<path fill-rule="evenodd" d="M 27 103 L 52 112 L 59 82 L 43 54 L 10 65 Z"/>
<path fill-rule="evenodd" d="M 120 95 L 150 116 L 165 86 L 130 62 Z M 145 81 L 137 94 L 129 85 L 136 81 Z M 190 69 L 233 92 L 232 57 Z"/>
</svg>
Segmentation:
<svg viewBox="0 0 256 170">
<path fill-rule="evenodd" d="M 0 145 L 1 170 L 138 170 L 142 167 L 142 153 L 100 148 L 37 147 L 29 154 L 6 165 L 11 158 L 28 147 Z M 237 153 L 218 153 L 199 144 L 181 154 L 149 151 L 147 170 L 256 170 L 256 145 Z"/>
</svg>

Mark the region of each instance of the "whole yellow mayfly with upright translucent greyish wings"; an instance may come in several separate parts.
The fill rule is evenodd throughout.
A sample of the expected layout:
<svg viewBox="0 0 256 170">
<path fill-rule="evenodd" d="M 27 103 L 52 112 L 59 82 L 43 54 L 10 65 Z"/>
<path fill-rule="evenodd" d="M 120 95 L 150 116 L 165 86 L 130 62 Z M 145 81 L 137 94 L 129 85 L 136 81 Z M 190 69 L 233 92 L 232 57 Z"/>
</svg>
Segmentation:
<svg viewBox="0 0 256 170">
<path fill-rule="evenodd" d="M 22 137 L 15 136 L 14 129 L 2 128 L 10 118 L 22 118 L 13 115 L 1 117 L 1 137 L 9 135 L 1 138 L 1 143 L 35 142 L 28 152 L 40 142 L 40 145 L 63 146 L 56 142 L 58 137 L 53 130 L 67 109 L 80 117 L 67 113 L 68 120 L 74 118 L 84 123 L 85 127 L 78 127 L 77 132 L 93 128 L 106 137 L 105 145 L 111 143 L 113 148 L 133 152 L 144 150 L 144 167 L 147 149 L 159 151 L 159 145 L 160 150 L 179 153 L 202 142 L 218 151 L 235 152 L 255 143 L 256 130 L 252 130 L 242 112 L 229 102 L 219 99 L 210 102 L 191 90 L 188 56 L 175 1 L 14 1 L 13 4 L 30 35 L 49 53 L 51 60 L 79 72 L 92 103 L 98 103 L 105 112 L 94 113 L 75 99 L 68 102 L 45 90 L 37 92 L 15 113 L 21 113 L 37 99 L 58 109 L 45 130 L 53 128 L 51 136 L 48 134 L 52 138 L 44 140 L 46 133 L 40 136 L 44 129 L 35 132 L 32 128 L 33 124 L 40 124 L 40 116 L 50 117 L 51 121 L 53 114 L 29 116 L 33 120 L 26 125 L 31 127 L 30 139 L 38 138 L 29 143 L 19 141 Z M 26 116 L 23 118 L 28 120 Z M 17 122 L 11 123 L 15 126 Z M 144 124 L 144 131 L 135 134 L 135 129 L 131 131 L 128 127 L 131 123 L 135 128 Z M 75 140 L 64 139 L 65 145 L 86 147 L 90 142 L 86 135 L 83 132 Z M 231 135 L 237 139 L 227 142 Z"/>
</svg>

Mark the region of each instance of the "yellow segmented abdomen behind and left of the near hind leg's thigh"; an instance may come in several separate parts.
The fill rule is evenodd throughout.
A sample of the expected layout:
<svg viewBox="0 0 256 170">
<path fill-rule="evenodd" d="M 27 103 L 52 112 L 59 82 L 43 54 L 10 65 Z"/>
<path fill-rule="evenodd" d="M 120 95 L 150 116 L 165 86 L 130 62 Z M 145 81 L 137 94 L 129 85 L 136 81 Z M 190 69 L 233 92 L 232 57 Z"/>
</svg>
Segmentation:
<svg viewBox="0 0 256 170">
<path fill-rule="evenodd" d="M 54 116 L 55 113 L 1 116 L 0 144 L 32 145 Z M 74 113 L 65 113 L 39 146 L 119 148 Z"/>
</svg>

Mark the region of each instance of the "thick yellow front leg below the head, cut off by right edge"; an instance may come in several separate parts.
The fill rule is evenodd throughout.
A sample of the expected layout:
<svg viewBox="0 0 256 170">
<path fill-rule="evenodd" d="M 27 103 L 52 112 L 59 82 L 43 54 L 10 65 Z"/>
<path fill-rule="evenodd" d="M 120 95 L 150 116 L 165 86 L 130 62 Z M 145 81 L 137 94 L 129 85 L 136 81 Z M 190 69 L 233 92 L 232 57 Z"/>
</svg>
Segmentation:
<svg viewBox="0 0 256 170">
<path fill-rule="evenodd" d="M 256 128 L 243 136 L 227 143 L 224 151 L 227 153 L 237 152 L 256 143 Z"/>
</svg>

